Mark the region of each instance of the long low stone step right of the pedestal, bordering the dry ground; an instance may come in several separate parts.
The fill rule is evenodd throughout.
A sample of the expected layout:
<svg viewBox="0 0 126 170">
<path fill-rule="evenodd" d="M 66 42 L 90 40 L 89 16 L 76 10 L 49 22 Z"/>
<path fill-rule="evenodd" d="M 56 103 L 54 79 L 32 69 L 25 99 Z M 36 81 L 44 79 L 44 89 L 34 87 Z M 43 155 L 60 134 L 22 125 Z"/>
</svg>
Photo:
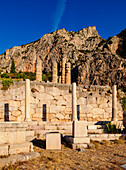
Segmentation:
<svg viewBox="0 0 126 170">
<path fill-rule="evenodd" d="M 89 134 L 88 137 L 94 141 L 119 140 L 122 134 Z"/>
</svg>

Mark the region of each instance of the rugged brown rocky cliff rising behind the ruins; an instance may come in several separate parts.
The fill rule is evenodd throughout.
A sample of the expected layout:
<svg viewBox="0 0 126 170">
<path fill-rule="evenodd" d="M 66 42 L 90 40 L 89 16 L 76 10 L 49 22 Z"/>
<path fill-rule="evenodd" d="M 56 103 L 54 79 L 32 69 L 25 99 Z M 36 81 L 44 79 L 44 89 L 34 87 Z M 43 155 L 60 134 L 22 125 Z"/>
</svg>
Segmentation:
<svg viewBox="0 0 126 170">
<path fill-rule="evenodd" d="M 102 39 L 94 26 L 78 32 L 57 30 L 35 42 L 6 50 L 0 55 L 0 69 L 9 72 L 14 59 L 17 72 L 35 72 L 40 58 L 47 73 L 52 72 L 53 61 L 60 63 L 63 57 L 71 62 L 72 81 L 126 85 L 126 29 L 108 40 Z"/>
</svg>

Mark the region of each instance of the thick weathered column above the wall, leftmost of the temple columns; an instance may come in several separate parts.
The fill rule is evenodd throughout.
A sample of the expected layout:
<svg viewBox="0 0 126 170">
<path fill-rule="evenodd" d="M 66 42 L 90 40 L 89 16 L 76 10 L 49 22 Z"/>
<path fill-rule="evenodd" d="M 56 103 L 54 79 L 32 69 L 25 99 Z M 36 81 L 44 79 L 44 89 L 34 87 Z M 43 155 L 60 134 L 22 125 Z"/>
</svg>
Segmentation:
<svg viewBox="0 0 126 170">
<path fill-rule="evenodd" d="M 36 80 L 42 81 L 42 61 L 36 61 Z"/>
</svg>

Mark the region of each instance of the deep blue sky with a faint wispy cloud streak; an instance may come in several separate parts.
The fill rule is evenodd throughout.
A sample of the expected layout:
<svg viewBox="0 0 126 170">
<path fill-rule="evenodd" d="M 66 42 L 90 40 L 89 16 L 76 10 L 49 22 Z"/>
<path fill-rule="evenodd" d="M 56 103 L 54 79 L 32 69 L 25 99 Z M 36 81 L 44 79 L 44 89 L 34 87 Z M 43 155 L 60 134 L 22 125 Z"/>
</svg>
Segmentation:
<svg viewBox="0 0 126 170">
<path fill-rule="evenodd" d="M 55 29 L 96 26 L 107 39 L 126 28 L 126 0 L 0 1 L 0 54 Z"/>
</svg>

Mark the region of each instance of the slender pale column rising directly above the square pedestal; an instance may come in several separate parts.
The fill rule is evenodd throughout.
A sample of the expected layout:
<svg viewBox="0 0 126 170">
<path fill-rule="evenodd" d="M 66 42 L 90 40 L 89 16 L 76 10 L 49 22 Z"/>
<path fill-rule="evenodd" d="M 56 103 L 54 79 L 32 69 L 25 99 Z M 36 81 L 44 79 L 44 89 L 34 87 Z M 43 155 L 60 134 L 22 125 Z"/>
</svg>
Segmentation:
<svg viewBox="0 0 126 170">
<path fill-rule="evenodd" d="M 77 120 L 76 83 L 72 83 L 72 120 Z"/>
</svg>

